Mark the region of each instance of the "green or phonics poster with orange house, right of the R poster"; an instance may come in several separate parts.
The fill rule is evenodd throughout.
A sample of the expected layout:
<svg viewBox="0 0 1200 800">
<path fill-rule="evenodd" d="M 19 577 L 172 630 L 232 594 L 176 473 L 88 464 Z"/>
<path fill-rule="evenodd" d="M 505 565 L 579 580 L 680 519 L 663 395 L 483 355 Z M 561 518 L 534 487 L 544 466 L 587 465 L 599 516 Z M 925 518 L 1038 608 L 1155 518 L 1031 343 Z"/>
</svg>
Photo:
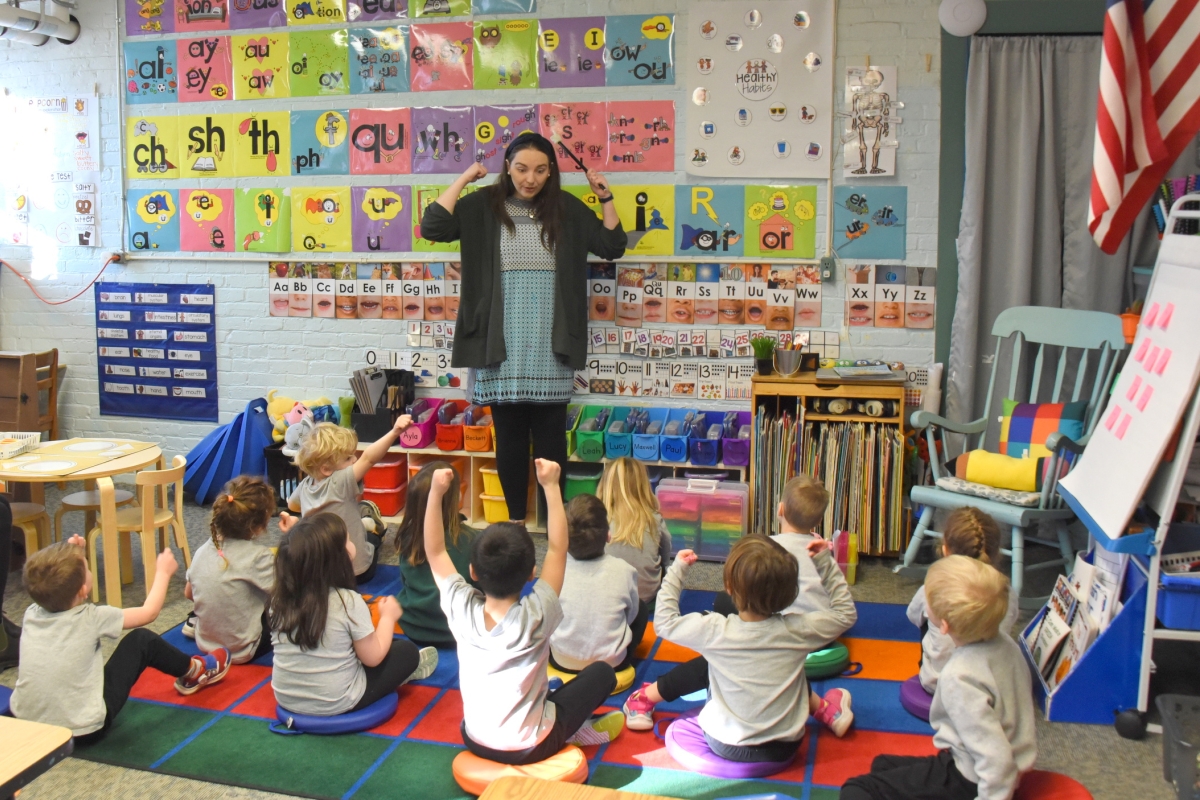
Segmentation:
<svg viewBox="0 0 1200 800">
<path fill-rule="evenodd" d="M 815 186 L 746 186 L 745 254 L 812 258 L 816 253 Z"/>
</svg>

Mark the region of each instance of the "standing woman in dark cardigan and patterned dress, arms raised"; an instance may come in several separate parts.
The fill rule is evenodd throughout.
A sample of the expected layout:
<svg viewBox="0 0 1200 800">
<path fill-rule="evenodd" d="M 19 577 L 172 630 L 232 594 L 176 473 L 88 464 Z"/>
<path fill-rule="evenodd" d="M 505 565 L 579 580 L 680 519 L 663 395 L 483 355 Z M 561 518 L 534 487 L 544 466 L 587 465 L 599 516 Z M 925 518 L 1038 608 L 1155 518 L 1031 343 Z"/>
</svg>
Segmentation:
<svg viewBox="0 0 1200 800">
<path fill-rule="evenodd" d="M 462 241 L 462 299 L 451 366 L 474 368 L 472 401 L 492 407 L 496 467 L 509 518 L 528 513 L 534 458 L 566 465 L 566 404 L 588 349 L 588 253 L 625 252 L 625 231 L 602 175 L 588 170 L 604 219 L 562 191 L 554 146 L 522 133 L 491 186 L 473 164 L 425 210 L 421 236 Z M 565 473 L 565 469 L 564 469 Z"/>
</svg>

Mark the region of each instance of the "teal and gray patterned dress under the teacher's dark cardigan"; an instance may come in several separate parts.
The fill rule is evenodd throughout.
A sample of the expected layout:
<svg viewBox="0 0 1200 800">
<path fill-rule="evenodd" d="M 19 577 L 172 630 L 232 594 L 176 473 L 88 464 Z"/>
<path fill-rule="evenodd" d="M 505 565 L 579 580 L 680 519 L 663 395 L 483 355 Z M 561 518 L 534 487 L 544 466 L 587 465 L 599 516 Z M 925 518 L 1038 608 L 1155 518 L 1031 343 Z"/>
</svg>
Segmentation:
<svg viewBox="0 0 1200 800">
<path fill-rule="evenodd" d="M 541 243 L 530 204 L 504 204 L 516 225 L 500 227 L 500 284 L 504 289 L 504 349 L 508 357 L 475 371 L 476 403 L 566 403 L 575 371 L 554 355 L 554 254 Z"/>
</svg>

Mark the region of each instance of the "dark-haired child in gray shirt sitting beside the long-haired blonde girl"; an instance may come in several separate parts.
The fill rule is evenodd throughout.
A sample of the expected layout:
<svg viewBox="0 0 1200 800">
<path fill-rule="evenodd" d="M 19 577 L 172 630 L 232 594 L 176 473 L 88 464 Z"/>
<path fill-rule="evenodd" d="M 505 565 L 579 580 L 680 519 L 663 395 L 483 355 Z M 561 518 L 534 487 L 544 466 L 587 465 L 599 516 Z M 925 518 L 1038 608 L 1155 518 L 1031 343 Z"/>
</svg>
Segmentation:
<svg viewBox="0 0 1200 800">
<path fill-rule="evenodd" d="M 637 599 L 637 570 L 605 554 L 608 515 L 593 494 L 566 504 L 566 573 L 558 601 L 563 622 L 550 637 L 550 663 L 577 673 L 595 661 L 613 669 L 632 664 L 649 608 Z"/>
</svg>

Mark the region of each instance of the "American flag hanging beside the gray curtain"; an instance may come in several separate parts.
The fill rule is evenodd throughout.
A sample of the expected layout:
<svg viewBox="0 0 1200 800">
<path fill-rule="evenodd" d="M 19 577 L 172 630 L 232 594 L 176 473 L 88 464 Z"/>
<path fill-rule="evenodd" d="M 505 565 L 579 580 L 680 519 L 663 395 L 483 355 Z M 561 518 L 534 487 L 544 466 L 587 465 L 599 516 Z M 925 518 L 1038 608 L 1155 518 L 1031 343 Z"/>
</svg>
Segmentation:
<svg viewBox="0 0 1200 800">
<path fill-rule="evenodd" d="M 1115 253 L 1200 130 L 1200 0 L 1108 0 L 1087 227 Z"/>
</svg>

